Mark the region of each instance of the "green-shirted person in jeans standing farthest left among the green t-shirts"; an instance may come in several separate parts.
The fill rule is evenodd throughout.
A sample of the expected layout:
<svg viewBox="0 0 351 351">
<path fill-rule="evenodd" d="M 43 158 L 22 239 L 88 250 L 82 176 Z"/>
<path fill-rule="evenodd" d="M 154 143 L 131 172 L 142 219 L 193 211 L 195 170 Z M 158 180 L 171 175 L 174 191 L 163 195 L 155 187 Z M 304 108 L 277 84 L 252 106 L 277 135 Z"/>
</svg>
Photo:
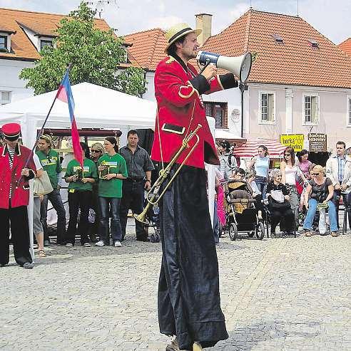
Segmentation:
<svg viewBox="0 0 351 351">
<path fill-rule="evenodd" d="M 47 212 L 48 212 L 48 200 L 50 200 L 52 206 L 57 213 L 57 243 L 64 243 L 66 237 L 66 210 L 63 206 L 63 202 L 60 194 L 61 185 L 61 163 L 59 154 L 51 149 L 52 141 L 49 135 L 41 135 L 38 140 L 39 151 L 36 154 L 39 157 L 41 166 L 44 171 L 49 175 L 49 179 L 54 190 L 45 195 L 43 201 L 41 201 L 41 223 L 44 229 L 44 246 L 50 244 L 48 225 L 46 223 Z"/>
</svg>

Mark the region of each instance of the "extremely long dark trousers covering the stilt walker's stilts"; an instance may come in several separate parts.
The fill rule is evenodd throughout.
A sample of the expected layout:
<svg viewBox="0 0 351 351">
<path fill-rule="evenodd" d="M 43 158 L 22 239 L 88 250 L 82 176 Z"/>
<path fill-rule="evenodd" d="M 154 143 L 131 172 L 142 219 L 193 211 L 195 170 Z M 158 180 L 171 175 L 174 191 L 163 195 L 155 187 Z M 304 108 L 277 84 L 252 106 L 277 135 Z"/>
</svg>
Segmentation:
<svg viewBox="0 0 351 351">
<path fill-rule="evenodd" d="M 158 323 L 161 333 L 177 335 L 180 350 L 192 350 L 194 341 L 213 347 L 228 338 L 206 180 L 205 169 L 184 166 L 161 199 Z"/>
</svg>

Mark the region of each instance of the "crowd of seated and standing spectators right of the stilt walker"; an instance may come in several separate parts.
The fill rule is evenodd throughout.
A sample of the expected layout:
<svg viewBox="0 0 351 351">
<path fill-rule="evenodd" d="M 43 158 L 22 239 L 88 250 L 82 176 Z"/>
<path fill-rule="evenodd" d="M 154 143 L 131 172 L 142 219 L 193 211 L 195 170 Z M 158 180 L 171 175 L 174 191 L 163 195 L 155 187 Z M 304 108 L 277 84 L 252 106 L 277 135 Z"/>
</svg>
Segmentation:
<svg viewBox="0 0 351 351">
<path fill-rule="evenodd" d="M 340 197 L 351 229 L 351 159 L 345 154 L 345 142 L 337 142 L 336 154 L 330 156 L 325 167 L 310 162 L 307 150 L 296 155 L 292 147 L 286 147 L 280 168 L 270 169 L 269 150 L 260 145 L 258 154 L 250 160 L 245 171 L 237 167 L 237 162 L 232 166 L 229 160 L 235 159 L 233 153 L 235 150 L 230 150 L 228 142 L 220 142 L 220 176 L 217 175 L 216 182 L 223 184 L 245 179 L 250 197 L 256 200 L 259 217 L 268 216 L 271 236 L 275 236 L 278 225 L 280 231 L 288 235 L 298 232 L 301 225 L 305 236 L 326 235 L 326 230 L 318 229 L 318 225 L 323 226 L 319 220 L 322 214 L 325 218 L 325 211 L 329 216 L 331 236 L 338 236 Z M 216 185 L 217 194 L 218 187 Z M 220 208 L 218 199 L 215 208 Z M 300 222 L 301 215 L 303 220 Z M 220 221 L 215 220 L 215 223 Z M 217 237 L 215 234 L 215 240 Z"/>
</svg>

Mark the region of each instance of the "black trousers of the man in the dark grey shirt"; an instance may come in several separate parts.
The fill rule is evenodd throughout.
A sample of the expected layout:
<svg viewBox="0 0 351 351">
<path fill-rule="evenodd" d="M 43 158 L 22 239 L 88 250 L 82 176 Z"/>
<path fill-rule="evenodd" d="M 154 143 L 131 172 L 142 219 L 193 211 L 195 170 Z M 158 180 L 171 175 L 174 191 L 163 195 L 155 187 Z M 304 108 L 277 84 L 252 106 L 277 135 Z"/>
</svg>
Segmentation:
<svg viewBox="0 0 351 351">
<path fill-rule="evenodd" d="M 122 227 L 122 239 L 126 236 L 126 226 L 128 219 L 128 211 L 131 209 L 134 214 L 140 214 L 144 207 L 144 189 L 145 182 L 143 180 L 133 182 L 131 179 L 123 180 L 122 199 L 119 209 L 119 218 Z M 135 220 L 136 222 L 136 237 L 138 239 L 146 239 L 148 233 L 144 225 Z"/>
</svg>

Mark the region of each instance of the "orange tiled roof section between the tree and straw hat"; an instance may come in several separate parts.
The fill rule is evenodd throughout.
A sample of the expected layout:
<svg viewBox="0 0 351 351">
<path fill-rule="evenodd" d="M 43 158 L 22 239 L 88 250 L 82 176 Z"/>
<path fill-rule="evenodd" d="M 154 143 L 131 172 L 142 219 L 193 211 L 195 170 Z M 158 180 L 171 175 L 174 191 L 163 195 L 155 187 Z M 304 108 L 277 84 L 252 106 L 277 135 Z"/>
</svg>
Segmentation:
<svg viewBox="0 0 351 351">
<path fill-rule="evenodd" d="M 146 70 L 156 70 L 158 63 L 166 56 L 164 49 L 167 41 L 161 28 L 128 34 L 124 40 L 133 44 L 128 47 L 128 58 Z"/>
</svg>

